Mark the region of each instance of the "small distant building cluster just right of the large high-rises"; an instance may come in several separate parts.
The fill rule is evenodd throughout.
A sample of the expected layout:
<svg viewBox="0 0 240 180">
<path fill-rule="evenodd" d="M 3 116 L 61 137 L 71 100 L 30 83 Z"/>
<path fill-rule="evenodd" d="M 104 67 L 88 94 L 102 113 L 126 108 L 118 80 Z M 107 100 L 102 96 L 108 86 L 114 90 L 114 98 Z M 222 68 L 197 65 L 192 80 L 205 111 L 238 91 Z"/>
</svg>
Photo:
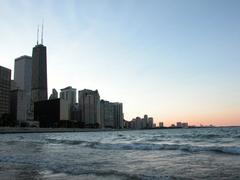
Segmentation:
<svg viewBox="0 0 240 180">
<path fill-rule="evenodd" d="M 131 121 L 125 121 L 125 127 L 130 129 L 152 129 L 156 128 L 156 124 L 153 123 L 153 118 L 144 115 L 143 118 L 136 117 Z"/>
</svg>

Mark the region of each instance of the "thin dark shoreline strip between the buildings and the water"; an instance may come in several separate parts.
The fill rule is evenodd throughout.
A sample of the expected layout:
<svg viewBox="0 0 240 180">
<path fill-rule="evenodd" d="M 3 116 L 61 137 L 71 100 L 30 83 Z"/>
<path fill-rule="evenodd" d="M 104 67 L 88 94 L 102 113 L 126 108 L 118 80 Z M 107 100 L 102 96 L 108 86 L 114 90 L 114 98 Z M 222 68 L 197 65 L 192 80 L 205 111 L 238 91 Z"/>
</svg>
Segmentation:
<svg viewBox="0 0 240 180">
<path fill-rule="evenodd" d="M 239 128 L 240 126 L 216 126 L 216 127 L 194 127 L 199 128 Z M 106 131 L 137 131 L 137 130 L 157 130 L 157 129 L 181 129 L 181 128 L 153 128 L 153 129 L 90 129 L 90 128 L 21 128 L 21 127 L 0 127 L 0 134 L 16 133 L 68 133 L 68 132 L 106 132 Z M 184 128 L 183 128 L 184 129 Z"/>
</svg>

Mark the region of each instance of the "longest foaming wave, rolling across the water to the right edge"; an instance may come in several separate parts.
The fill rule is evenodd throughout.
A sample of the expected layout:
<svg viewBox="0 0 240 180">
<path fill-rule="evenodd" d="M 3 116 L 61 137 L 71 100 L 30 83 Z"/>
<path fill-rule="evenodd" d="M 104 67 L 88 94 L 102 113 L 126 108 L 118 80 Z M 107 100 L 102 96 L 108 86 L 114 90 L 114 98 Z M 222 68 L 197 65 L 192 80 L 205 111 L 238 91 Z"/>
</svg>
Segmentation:
<svg viewBox="0 0 240 180">
<path fill-rule="evenodd" d="M 89 141 L 55 140 L 48 139 L 50 143 L 68 145 L 82 145 L 84 147 L 103 150 L 181 150 L 186 152 L 216 152 L 232 155 L 240 155 L 239 146 L 194 146 L 190 144 L 154 144 L 154 143 L 101 143 Z"/>
</svg>

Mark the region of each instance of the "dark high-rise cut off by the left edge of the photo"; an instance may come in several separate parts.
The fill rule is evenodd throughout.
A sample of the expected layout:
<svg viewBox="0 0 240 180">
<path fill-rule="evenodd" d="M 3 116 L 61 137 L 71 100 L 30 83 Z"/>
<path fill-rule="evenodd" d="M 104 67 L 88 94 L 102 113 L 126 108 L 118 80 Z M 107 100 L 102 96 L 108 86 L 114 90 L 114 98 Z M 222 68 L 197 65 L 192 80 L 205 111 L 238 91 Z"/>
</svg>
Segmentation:
<svg viewBox="0 0 240 180">
<path fill-rule="evenodd" d="M 0 66 L 0 118 L 10 111 L 11 70 Z"/>
</svg>

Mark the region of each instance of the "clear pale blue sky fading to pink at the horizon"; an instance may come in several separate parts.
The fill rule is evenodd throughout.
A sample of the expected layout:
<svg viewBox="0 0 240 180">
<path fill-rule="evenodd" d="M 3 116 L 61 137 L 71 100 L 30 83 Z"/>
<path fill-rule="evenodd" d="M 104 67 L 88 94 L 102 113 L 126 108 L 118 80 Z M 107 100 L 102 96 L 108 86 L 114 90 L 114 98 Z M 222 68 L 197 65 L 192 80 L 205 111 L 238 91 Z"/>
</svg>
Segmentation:
<svg viewBox="0 0 240 180">
<path fill-rule="evenodd" d="M 44 19 L 48 87 L 98 89 L 125 119 L 240 125 L 239 0 L 0 0 L 0 65 Z"/>
</svg>

